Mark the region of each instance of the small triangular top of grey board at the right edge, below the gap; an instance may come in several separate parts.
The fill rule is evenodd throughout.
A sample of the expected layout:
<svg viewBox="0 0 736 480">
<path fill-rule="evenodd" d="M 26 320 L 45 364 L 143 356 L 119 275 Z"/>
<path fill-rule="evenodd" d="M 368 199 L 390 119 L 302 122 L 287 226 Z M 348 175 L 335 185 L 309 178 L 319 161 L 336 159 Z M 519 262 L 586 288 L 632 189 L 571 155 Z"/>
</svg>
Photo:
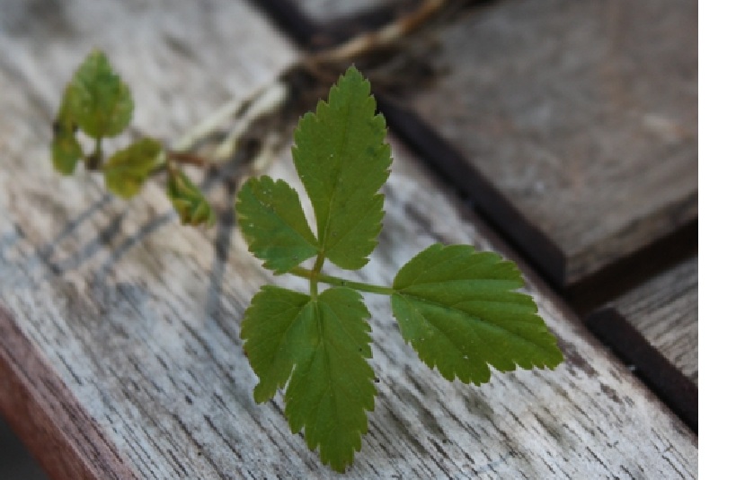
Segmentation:
<svg viewBox="0 0 736 480">
<path fill-rule="evenodd" d="M 697 257 L 657 275 L 611 306 L 697 384 Z"/>
</svg>

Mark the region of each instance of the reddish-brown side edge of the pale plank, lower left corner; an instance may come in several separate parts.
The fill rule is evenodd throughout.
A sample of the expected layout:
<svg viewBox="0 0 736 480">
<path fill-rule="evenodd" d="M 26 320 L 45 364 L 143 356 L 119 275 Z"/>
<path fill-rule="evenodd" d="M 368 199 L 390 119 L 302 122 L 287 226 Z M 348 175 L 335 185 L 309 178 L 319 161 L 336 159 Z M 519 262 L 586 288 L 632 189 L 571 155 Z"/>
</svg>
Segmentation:
<svg viewBox="0 0 736 480">
<path fill-rule="evenodd" d="M 2 304 L 0 413 L 51 478 L 136 478 Z"/>
</svg>

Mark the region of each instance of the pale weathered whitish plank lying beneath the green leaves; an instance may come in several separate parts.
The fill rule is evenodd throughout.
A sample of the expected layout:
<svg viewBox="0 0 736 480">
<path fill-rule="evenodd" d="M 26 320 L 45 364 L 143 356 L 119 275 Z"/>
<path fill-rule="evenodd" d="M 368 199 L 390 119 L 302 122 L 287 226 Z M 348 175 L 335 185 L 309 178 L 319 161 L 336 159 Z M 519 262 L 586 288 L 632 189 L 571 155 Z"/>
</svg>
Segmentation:
<svg viewBox="0 0 736 480">
<path fill-rule="evenodd" d="M 235 1 L 7 5 L 4 308 L 137 476 L 333 476 L 288 432 L 280 394 L 253 402 L 256 378 L 238 340 L 261 284 L 303 282 L 264 272 L 236 229 L 180 226 L 160 185 L 125 202 L 106 195 L 99 176 L 59 177 L 47 147 L 63 85 L 93 45 L 130 79 L 136 127 L 173 138 L 228 95 L 270 81 L 294 59 L 288 43 Z M 360 279 L 390 282 L 437 240 L 510 255 L 395 147 L 385 231 Z M 288 153 L 270 174 L 296 181 Z M 208 192 L 218 208 L 223 189 Z M 380 383 L 349 476 L 696 476 L 696 437 L 524 271 L 567 361 L 555 371 L 497 374 L 480 388 L 427 369 L 403 343 L 386 299 L 366 298 Z"/>
</svg>

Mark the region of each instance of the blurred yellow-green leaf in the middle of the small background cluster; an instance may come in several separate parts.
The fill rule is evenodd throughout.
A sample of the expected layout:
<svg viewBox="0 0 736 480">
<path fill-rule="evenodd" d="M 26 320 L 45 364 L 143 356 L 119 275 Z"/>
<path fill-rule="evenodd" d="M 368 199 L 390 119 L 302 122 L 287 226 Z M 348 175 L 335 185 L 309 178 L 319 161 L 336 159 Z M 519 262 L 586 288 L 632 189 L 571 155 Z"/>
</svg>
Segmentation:
<svg viewBox="0 0 736 480">
<path fill-rule="evenodd" d="M 114 153 L 103 167 L 107 188 L 123 198 L 136 195 L 161 152 L 160 143 L 143 138 Z"/>
</svg>

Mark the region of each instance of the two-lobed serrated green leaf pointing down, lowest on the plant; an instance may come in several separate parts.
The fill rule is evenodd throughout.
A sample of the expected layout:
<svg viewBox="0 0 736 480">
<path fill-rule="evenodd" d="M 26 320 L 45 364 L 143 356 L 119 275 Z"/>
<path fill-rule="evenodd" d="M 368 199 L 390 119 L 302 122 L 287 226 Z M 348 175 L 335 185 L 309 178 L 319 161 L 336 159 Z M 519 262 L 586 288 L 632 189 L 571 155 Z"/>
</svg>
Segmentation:
<svg viewBox="0 0 736 480">
<path fill-rule="evenodd" d="M 304 428 L 309 449 L 344 471 L 368 431 L 376 387 L 369 313 L 358 292 L 335 287 L 316 298 L 266 285 L 245 311 L 241 336 L 264 402 L 283 388 L 291 431 Z M 290 379 L 290 380 L 289 380 Z"/>
</svg>

